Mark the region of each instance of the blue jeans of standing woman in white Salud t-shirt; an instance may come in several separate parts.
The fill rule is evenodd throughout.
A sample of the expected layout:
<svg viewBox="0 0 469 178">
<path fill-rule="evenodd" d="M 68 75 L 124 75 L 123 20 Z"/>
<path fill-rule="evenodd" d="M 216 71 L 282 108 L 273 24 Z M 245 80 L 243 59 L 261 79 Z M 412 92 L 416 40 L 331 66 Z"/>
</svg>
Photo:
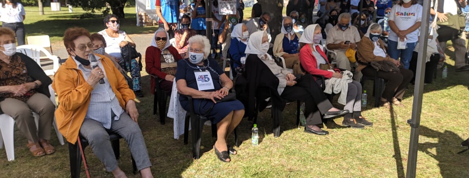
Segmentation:
<svg viewBox="0 0 469 178">
<path fill-rule="evenodd" d="M 412 53 L 414 52 L 417 42 L 407 43 L 406 49 L 398 50 L 397 41 L 388 40 L 387 49 L 389 56 L 393 59 L 399 59 L 401 57 L 401 62 L 404 63 L 404 68 L 409 69 L 410 60 L 412 59 Z"/>
</svg>

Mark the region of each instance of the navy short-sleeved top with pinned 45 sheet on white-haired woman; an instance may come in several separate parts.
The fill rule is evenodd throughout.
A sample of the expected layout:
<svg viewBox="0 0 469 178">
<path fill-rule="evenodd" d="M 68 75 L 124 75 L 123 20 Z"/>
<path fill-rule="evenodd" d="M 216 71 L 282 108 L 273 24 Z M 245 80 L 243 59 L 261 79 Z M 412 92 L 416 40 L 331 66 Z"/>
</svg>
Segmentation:
<svg viewBox="0 0 469 178">
<path fill-rule="evenodd" d="M 220 75 L 224 74 L 223 69 L 218 65 L 218 62 L 215 59 L 206 59 L 204 60 L 204 66 L 197 66 L 189 62 L 189 59 L 182 59 L 177 62 L 176 69 L 176 82 L 180 79 L 186 80 L 187 87 L 192 89 L 197 89 L 197 80 L 194 72 L 198 71 L 208 71 L 212 76 L 212 82 L 214 89 L 204 90 L 204 91 L 217 91 L 221 89 Z M 179 101 L 187 100 L 186 96 L 180 96 Z"/>
</svg>

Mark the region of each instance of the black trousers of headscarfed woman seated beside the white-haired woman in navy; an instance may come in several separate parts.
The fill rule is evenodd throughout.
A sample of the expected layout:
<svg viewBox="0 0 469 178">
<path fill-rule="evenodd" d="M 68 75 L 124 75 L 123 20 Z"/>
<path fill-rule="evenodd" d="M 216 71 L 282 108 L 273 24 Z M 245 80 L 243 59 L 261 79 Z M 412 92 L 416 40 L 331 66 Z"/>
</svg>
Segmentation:
<svg viewBox="0 0 469 178">
<path fill-rule="evenodd" d="M 304 101 L 306 125 L 321 124 L 321 115 L 333 108 L 331 102 L 310 74 L 303 75 L 297 82 L 292 87 L 285 87 L 281 97 L 289 101 Z"/>
</svg>

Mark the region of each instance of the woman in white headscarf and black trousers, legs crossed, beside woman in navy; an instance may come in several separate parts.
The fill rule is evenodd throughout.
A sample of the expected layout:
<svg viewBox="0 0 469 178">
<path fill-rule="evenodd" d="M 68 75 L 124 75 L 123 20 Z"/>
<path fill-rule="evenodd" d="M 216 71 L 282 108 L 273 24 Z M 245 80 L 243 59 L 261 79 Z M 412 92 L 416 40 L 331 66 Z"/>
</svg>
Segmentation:
<svg viewBox="0 0 469 178">
<path fill-rule="evenodd" d="M 343 116 L 348 110 L 334 108 L 327 97 L 322 92 L 321 87 L 314 82 L 310 74 L 303 75 L 296 79 L 295 75 L 285 68 L 279 67 L 267 53 L 269 49 L 267 33 L 265 31 L 254 32 L 250 36 L 248 47 L 246 48 L 246 60 L 261 60 L 272 74 L 279 80 L 278 91 L 281 98 L 288 101 L 304 101 L 306 116 L 306 126 L 304 132 L 310 134 L 325 135 L 329 132 L 322 130 L 318 124 L 322 124 L 322 118 L 333 118 Z"/>
</svg>

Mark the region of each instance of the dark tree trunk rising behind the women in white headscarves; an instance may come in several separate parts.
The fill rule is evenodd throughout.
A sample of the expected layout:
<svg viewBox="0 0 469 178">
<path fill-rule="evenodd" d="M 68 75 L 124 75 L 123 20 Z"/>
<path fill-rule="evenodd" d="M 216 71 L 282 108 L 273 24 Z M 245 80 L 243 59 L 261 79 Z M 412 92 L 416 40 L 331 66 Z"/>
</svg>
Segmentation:
<svg viewBox="0 0 469 178">
<path fill-rule="evenodd" d="M 272 35 L 273 43 L 275 37 L 280 33 L 280 28 L 282 27 L 282 10 L 283 10 L 283 0 L 257 0 L 262 5 L 262 10 L 264 12 L 269 12 L 272 15 L 272 18 L 269 21 L 270 34 Z M 268 9 L 268 10 L 267 10 Z"/>
</svg>

